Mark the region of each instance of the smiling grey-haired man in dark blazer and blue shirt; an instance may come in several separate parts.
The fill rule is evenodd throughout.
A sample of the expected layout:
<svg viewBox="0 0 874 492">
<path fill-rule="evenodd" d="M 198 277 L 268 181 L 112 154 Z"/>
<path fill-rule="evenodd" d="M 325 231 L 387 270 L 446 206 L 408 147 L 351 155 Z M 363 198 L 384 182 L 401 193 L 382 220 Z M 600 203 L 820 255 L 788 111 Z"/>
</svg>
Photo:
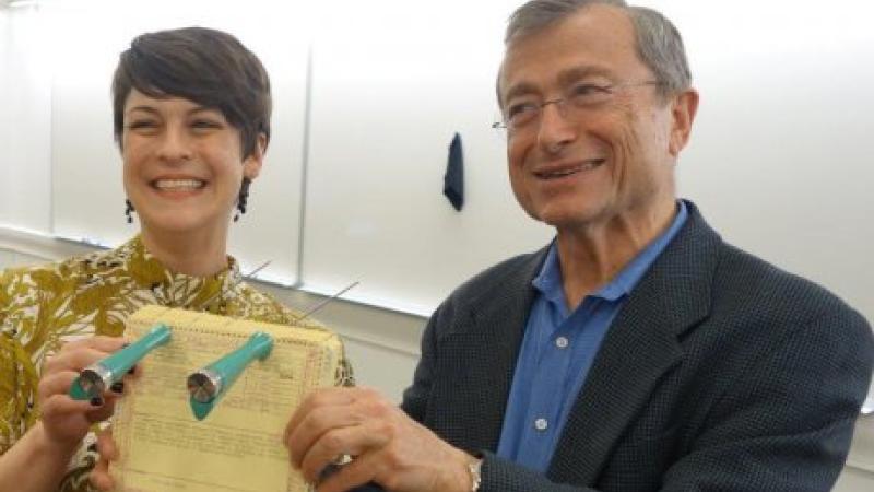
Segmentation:
<svg viewBox="0 0 874 492">
<path fill-rule="evenodd" d="M 829 490 L 870 327 L 675 198 L 698 94 L 674 26 L 623 1 L 533 0 L 506 45 L 512 188 L 555 241 L 444 302 L 402 410 L 312 395 L 293 462 L 320 492 Z"/>
</svg>

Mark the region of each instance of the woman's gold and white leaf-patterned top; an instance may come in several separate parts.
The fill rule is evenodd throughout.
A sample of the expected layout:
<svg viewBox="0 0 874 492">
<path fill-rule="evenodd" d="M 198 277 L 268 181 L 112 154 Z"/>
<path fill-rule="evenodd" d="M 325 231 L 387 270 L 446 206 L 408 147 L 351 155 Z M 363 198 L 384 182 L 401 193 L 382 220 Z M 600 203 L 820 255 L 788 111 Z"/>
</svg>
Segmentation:
<svg viewBox="0 0 874 492">
<path fill-rule="evenodd" d="M 295 312 L 240 280 L 233 258 L 212 277 L 173 273 L 145 250 L 139 236 L 116 249 L 0 272 L 0 454 L 38 419 L 36 389 L 46 358 L 68 341 L 121 336 L 125 319 L 143 305 L 324 329 L 311 320 L 296 321 Z M 336 384 L 352 384 L 345 360 Z M 94 442 L 90 433 L 59 490 L 91 490 Z"/>
</svg>

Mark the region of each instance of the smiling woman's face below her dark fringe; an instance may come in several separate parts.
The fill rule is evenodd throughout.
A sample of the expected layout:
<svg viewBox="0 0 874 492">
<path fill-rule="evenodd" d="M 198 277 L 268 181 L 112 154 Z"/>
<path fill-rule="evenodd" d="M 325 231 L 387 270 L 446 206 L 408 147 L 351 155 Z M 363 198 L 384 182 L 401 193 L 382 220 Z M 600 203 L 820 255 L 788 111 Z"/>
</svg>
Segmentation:
<svg viewBox="0 0 874 492">
<path fill-rule="evenodd" d="M 239 130 L 218 109 L 135 89 L 125 103 L 125 190 L 143 230 L 227 234 L 243 177 L 253 179 L 263 137 L 243 157 Z"/>
</svg>

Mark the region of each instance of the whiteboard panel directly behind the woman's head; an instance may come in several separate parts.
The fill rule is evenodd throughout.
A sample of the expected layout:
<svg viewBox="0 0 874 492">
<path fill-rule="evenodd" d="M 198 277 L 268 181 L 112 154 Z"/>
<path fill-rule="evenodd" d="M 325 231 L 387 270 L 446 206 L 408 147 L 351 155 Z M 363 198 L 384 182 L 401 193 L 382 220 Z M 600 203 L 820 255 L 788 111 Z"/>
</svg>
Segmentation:
<svg viewBox="0 0 874 492">
<path fill-rule="evenodd" d="M 140 7 L 138 7 L 140 5 Z M 297 282 L 309 34 L 303 5 L 255 1 L 133 1 L 50 4 L 57 45 L 52 83 L 54 233 L 115 246 L 139 231 L 123 216 L 121 160 L 113 140 L 109 86 L 118 55 L 149 31 L 202 25 L 227 31 L 255 51 L 271 77 L 273 118 L 262 173 L 248 210 L 231 227 L 228 249 L 244 271 L 271 260 L 259 278 Z M 264 15 L 268 8 L 273 15 Z M 63 40 L 63 43 L 60 43 Z"/>
</svg>

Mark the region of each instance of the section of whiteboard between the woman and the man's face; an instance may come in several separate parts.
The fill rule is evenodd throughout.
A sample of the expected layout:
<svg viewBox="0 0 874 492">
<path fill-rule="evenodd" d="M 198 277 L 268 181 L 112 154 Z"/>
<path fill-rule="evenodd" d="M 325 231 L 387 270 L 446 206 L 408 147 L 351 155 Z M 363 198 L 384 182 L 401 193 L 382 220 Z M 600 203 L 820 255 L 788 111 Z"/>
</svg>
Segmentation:
<svg viewBox="0 0 874 492">
<path fill-rule="evenodd" d="M 552 236 L 516 204 L 491 128 L 515 4 L 362 2 L 316 34 L 305 289 L 361 281 L 347 297 L 428 315 L 473 273 Z M 456 132 L 461 212 L 442 196 Z"/>
</svg>

